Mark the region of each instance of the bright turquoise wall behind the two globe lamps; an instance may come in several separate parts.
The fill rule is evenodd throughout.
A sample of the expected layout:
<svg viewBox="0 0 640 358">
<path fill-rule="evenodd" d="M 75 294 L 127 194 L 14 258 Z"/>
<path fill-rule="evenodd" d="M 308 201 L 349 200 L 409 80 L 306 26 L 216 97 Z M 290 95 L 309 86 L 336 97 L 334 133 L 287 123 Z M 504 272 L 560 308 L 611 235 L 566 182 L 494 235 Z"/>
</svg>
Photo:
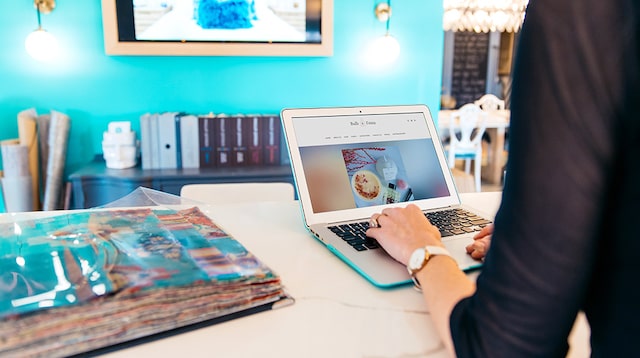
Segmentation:
<svg viewBox="0 0 640 358">
<path fill-rule="evenodd" d="M 284 107 L 424 103 L 439 106 L 441 1 L 394 2 L 391 33 L 402 52 L 372 71 L 362 53 L 384 34 L 374 0 L 334 0 L 331 57 L 150 57 L 104 53 L 99 0 L 58 0 L 43 15 L 64 59 L 41 64 L 24 50 L 36 27 L 31 0 L 0 1 L 0 139 L 18 136 L 16 115 L 34 107 L 71 118 L 67 172 L 101 153 L 114 120 L 138 129 L 145 112 L 278 113 Z"/>
</svg>

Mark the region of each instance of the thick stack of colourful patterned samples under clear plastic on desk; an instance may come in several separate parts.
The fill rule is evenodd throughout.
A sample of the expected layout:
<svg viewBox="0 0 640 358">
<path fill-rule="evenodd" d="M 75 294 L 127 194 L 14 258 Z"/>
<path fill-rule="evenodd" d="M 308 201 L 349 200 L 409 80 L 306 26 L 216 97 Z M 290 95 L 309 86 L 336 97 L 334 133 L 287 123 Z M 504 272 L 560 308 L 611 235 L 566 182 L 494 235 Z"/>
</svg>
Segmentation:
<svg viewBox="0 0 640 358">
<path fill-rule="evenodd" d="M 197 206 L 0 224 L 0 356 L 98 353 L 291 302 Z"/>
</svg>

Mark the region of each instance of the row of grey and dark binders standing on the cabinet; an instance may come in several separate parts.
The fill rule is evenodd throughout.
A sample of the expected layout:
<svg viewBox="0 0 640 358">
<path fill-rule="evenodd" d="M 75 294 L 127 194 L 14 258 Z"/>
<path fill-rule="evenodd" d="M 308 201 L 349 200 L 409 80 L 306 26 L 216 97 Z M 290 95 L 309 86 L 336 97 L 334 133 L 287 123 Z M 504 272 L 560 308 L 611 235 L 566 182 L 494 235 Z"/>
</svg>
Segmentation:
<svg viewBox="0 0 640 358">
<path fill-rule="evenodd" d="M 178 112 L 140 117 L 143 169 L 279 165 L 278 115 Z"/>
</svg>

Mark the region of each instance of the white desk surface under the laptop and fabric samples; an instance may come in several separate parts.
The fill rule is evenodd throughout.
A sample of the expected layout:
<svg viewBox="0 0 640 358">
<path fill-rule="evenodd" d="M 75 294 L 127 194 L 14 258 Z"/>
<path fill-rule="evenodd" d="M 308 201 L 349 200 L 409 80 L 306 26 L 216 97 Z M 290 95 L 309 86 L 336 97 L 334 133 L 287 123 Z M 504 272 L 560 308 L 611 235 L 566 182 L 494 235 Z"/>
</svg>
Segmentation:
<svg viewBox="0 0 640 358">
<path fill-rule="evenodd" d="M 494 213 L 500 193 L 462 195 Z M 381 290 L 324 249 L 304 229 L 298 204 L 203 208 L 219 225 L 280 274 L 296 299 L 258 313 L 107 357 L 446 357 L 422 295 L 412 287 Z M 573 337 L 588 356 L 588 329 Z"/>
</svg>

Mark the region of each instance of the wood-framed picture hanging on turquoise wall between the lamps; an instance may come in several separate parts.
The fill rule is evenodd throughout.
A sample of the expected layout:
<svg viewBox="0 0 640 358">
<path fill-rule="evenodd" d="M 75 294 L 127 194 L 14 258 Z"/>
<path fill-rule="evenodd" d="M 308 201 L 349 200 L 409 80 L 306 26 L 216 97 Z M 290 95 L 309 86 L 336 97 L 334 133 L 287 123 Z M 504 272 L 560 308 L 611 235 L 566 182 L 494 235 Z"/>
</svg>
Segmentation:
<svg viewBox="0 0 640 358">
<path fill-rule="evenodd" d="M 331 56 L 333 0 L 102 0 L 105 52 Z"/>
</svg>

